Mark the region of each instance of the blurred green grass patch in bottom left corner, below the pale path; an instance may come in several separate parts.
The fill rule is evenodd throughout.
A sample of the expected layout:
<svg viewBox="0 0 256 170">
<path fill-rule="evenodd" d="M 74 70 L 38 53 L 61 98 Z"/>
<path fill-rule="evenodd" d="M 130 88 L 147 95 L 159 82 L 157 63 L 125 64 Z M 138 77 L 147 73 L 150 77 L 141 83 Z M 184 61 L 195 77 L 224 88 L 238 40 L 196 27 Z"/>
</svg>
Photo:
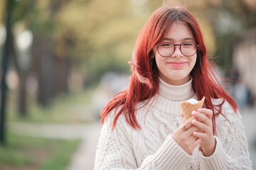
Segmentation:
<svg viewBox="0 0 256 170">
<path fill-rule="evenodd" d="M 0 169 L 65 169 L 80 140 L 9 135 L 0 147 Z"/>
</svg>

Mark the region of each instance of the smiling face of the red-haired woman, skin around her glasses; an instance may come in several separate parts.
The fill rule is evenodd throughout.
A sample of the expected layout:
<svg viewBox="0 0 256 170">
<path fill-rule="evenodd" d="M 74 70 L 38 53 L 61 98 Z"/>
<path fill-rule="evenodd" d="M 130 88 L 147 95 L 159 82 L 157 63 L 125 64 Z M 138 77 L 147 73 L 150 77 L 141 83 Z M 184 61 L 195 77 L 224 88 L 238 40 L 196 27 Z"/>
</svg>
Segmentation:
<svg viewBox="0 0 256 170">
<path fill-rule="evenodd" d="M 185 23 L 175 22 L 166 32 L 166 37 L 160 43 L 171 42 L 181 44 L 183 42 L 195 42 L 191 29 Z M 159 44 L 160 44 L 159 43 Z M 180 51 L 180 46 L 176 45 L 174 54 L 170 57 L 159 55 L 154 47 L 156 65 L 159 69 L 159 77 L 171 85 L 185 84 L 190 80 L 190 72 L 196 64 L 196 53 L 191 57 L 184 56 Z"/>
</svg>

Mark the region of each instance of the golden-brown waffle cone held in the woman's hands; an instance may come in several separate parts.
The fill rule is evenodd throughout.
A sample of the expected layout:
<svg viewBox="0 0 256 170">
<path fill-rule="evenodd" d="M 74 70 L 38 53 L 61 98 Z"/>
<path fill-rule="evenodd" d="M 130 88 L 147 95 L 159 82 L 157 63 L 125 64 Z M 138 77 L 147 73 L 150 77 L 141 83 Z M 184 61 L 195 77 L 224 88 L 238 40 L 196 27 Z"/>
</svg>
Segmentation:
<svg viewBox="0 0 256 170">
<path fill-rule="evenodd" d="M 203 107 L 203 102 L 205 101 L 205 97 L 201 99 L 201 101 L 198 101 L 198 103 L 191 104 L 188 101 L 181 102 L 181 111 L 183 113 L 183 120 L 188 120 L 192 117 L 192 111 L 197 111 L 198 108 Z"/>
</svg>

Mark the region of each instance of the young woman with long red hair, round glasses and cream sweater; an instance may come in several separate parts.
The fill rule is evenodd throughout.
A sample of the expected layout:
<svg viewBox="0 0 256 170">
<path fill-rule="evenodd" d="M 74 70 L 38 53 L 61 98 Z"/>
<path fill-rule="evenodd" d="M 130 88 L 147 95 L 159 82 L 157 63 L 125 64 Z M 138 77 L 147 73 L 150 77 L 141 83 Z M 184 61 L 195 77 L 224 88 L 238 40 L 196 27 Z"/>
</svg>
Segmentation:
<svg viewBox="0 0 256 170">
<path fill-rule="evenodd" d="M 238 106 L 215 77 L 196 19 L 158 8 L 139 33 L 132 77 L 102 110 L 95 169 L 252 169 Z M 204 106 L 183 122 L 179 104 Z"/>
</svg>

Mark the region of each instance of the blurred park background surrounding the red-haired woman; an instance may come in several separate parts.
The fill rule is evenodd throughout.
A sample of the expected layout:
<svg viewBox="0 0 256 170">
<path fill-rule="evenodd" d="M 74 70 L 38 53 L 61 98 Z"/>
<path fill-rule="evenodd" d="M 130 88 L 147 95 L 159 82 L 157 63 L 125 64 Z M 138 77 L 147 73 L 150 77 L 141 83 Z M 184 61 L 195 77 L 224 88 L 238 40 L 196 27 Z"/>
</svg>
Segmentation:
<svg viewBox="0 0 256 170">
<path fill-rule="evenodd" d="M 255 0 L 0 0 L 0 169 L 92 169 L 99 114 L 129 83 L 161 4 L 196 16 L 240 106 L 256 169 Z"/>
</svg>

